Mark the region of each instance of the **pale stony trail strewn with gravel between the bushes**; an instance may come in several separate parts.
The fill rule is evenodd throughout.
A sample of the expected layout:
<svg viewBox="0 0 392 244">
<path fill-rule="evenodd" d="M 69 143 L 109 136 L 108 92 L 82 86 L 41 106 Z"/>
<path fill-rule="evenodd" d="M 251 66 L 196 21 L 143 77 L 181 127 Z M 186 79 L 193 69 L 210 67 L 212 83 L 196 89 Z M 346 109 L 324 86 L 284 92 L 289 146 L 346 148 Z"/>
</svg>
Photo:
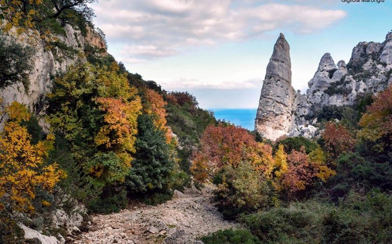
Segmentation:
<svg viewBox="0 0 392 244">
<path fill-rule="evenodd" d="M 211 189 L 177 192 L 175 198 L 157 206 L 130 207 L 117 214 L 94 215 L 88 232 L 67 243 L 196 244 L 198 237 L 235 228 L 213 206 Z"/>
</svg>

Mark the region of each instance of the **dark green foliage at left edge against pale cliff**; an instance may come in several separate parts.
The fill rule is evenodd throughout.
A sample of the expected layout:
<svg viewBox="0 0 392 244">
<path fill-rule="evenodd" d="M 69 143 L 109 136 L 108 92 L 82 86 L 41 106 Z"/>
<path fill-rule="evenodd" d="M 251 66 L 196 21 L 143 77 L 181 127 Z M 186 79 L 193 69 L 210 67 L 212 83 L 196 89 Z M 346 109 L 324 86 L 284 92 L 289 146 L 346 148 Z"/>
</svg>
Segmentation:
<svg viewBox="0 0 392 244">
<path fill-rule="evenodd" d="M 32 48 L 23 47 L 0 32 L 0 88 L 18 81 L 22 81 L 25 89 L 29 87 L 27 78 L 32 69 L 32 55 Z"/>
</svg>

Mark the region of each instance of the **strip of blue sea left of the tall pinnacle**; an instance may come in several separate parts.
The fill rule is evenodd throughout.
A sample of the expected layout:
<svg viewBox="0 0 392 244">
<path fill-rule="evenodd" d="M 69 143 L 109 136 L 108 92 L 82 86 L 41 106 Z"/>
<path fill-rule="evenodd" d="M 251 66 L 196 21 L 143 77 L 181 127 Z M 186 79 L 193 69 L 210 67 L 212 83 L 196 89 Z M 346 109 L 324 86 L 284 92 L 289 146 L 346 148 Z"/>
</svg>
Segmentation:
<svg viewBox="0 0 392 244">
<path fill-rule="evenodd" d="M 257 108 L 210 108 L 217 119 L 225 119 L 236 126 L 253 131 Z"/>
</svg>

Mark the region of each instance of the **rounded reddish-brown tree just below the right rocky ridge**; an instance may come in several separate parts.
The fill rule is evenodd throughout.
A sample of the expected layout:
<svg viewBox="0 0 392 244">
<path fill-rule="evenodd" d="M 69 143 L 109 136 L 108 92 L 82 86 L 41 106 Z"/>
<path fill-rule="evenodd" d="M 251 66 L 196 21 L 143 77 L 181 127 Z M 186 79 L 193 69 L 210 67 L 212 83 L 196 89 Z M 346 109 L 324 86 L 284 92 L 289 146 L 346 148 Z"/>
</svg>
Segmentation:
<svg viewBox="0 0 392 244">
<path fill-rule="evenodd" d="M 343 152 L 348 153 L 354 150 L 355 138 L 340 123 L 328 122 L 321 136 L 324 139 L 325 150 L 333 160 Z"/>
</svg>

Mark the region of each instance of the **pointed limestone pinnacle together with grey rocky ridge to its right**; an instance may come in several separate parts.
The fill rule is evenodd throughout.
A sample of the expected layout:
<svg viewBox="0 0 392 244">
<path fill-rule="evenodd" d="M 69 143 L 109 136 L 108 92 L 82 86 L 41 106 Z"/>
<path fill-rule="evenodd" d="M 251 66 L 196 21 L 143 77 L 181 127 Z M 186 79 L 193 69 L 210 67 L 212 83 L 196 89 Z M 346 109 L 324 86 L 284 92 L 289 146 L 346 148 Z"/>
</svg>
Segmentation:
<svg viewBox="0 0 392 244">
<path fill-rule="evenodd" d="M 276 60 L 286 65 L 277 66 Z M 255 130 L 273 141 L 284 135 L 312 137 L 322 107 L 353 105 L 358 96 L 384 90 L 392 82 L 392 33 L 383 43 L 358 43 L 347 65 L 344 60 L 336 65 L 325 53 L 306 94 L 294 92 L 290 69 L 290 46 L 281 34 L 267 66 L 255 120 Z"/>
</svg>

